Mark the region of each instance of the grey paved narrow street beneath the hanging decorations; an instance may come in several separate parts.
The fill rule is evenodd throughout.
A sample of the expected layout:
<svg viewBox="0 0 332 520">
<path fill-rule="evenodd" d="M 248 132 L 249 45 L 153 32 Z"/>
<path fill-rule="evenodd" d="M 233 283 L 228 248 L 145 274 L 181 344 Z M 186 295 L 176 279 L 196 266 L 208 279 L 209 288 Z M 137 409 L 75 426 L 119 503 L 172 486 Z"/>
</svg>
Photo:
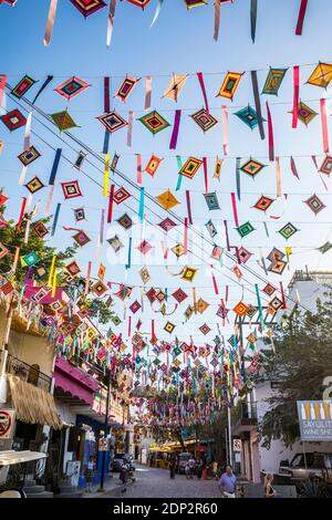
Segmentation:
<svg viewBox="0 0 332 520">
<path fill-rule="evenodd" d="M 118 489 L 101 498 L 220 498 L 217 480 L 186 479 L 184 475 L 176 475 L 172 480 L 168 470 L 147 466 L 137 466 L 135 477 L 136 482 L 129 483 L 127 491 L 122 493 L 118 474 L 113 474 L 114 480 L 118 480 Z"/>
</svg>

